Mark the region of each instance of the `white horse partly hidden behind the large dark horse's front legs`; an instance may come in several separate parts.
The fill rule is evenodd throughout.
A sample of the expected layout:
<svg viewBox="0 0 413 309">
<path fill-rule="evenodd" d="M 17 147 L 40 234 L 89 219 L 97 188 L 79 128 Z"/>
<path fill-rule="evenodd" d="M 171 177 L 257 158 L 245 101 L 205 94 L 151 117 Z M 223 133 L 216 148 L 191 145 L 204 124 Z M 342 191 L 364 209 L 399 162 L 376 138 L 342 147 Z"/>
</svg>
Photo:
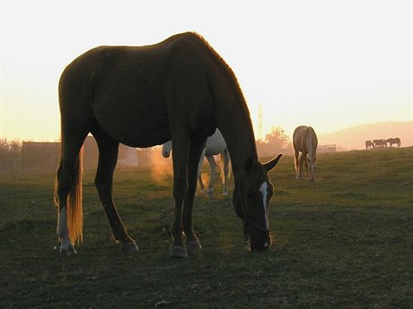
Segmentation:
<svg viewBox="0 0 413 309">
<path fill-rule="evenodd" d="M 172 141 L 165 142 L 162 148 L 162 154 L 164 158 L 169 158 L 172 150 Z M 226 148 L 226 143 L 224 141 L 223 134 L 216 129 L 215 133 L 209 136 L 206 140 L 204 150 L 202 151 L 201 159 L 199 160 L 198 166 L 198 182 L 201 188 L 201 192 L 205 193 L 205 185 L 202 181 L 201 176 L 201 167 L 204 158 L 207 159 L 209 167 L 211 167 L 211 176 L 209 177 L 209 185 L 206 193 L 214 193 L 214 180 L 215 180 L 215 171 L 216 163 L 214 156 L 221 154 L 221 181 L 224 185 L 223 195 L 228 195 L 228 177 L 229 177 L 229 163 L 230 155 L 228 149 Z"/>
</svg>

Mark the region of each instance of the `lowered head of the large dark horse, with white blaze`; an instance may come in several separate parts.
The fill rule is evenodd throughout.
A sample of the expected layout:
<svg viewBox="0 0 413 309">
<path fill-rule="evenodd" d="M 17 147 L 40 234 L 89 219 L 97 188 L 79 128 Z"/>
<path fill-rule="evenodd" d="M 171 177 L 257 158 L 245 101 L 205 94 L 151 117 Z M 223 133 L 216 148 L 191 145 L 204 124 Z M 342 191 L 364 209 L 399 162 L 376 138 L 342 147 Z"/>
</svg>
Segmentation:
<svg viewBox="0 0 413 309">
<path fill-rule="evenodd" d="M 275 167 L 281 155 L 268 163 L 248 159 L 242 176 L 233 191 L 233 206 L 244 223 L 244 236 L 250 240 L 252 251 L 265 251 L 271 245 L 268 210 L 273 186 L 268 171 Z"/>
</svg>

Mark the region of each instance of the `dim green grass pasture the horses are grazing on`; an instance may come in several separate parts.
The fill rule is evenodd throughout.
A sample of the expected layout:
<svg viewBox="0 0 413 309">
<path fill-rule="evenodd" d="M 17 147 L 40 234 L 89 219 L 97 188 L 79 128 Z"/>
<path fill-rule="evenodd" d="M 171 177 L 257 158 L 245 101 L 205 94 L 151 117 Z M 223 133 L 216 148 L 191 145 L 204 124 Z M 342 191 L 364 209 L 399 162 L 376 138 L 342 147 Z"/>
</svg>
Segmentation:
<svg viewBox="0 0 413 309">
<path fill-rule="evenodd" d="M 216 177 L 213 198 L 197 194 L 203 250 L 187 259 L 168 255 L 171 176 L 116 171 L 114 199 L 139 246 L 121 253 L 87 171 L 76 256 L 58 253 L 54 175 L 0 178 L 0 307 L 413 307 L 413 148 L 320 154 L 315 183 L 295 180 L 288 156 L 269 175 L 269 252 L 248 250 Z"/>
</svg>

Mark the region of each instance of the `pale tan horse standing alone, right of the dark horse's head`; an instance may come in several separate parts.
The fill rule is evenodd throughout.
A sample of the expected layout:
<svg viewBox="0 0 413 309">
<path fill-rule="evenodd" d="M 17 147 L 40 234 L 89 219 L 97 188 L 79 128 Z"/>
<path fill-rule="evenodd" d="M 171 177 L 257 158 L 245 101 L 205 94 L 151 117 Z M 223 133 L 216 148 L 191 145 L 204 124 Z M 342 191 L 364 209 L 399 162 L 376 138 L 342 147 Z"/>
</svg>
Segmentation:
<svg viewBox="0 0 413 309">
<path fill-rule="evenodd" d="M 295 178 L 303 179 L 303 163 L 305 163 L 305 176 L 315 181 L 315 160 L 317 150 L 317 134 L 311 126 L 300 125 L 293 133 Z M 298 159 L 299 153 L 302 153 Z M 310 166 L 310 175 L 308 174 Z"/>
</svg>

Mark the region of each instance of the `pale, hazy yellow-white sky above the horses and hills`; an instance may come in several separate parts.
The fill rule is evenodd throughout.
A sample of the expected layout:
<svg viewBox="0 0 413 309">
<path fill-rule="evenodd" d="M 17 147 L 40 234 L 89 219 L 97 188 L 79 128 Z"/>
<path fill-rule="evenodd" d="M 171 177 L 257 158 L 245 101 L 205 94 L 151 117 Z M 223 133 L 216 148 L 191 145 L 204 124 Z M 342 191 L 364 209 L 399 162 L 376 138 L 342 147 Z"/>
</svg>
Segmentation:
<svg viewBox="0 0 413 309">
<path fill-rule="evenodd" d="M 413 120 L 411 0 L 0 1 L 0 138 L 58 141 L 57 83 L 86 50 L 184 31 L 233 68 L 257 138 Z"/>
</svg>

